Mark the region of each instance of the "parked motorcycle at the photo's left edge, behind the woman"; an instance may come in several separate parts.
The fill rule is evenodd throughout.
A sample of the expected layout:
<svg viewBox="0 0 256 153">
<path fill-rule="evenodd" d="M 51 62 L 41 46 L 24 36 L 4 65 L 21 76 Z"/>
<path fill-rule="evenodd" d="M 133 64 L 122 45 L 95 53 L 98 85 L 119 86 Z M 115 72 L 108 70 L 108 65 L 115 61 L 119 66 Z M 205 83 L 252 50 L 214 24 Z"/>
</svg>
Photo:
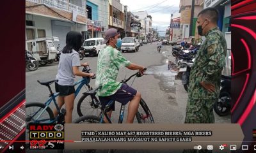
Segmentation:
<svg viewBox="0 0 256 153">
<path fill-rule="evenodd" d="M 26 59 L 26 68 L 29 71 L 35 71 L 36 69 L 38 69 L 39 63 L 37 59 L 33 57 L 32 52 L 29 52 L 28 50 L 26 50 L 25 59 Z"/>
</svg>

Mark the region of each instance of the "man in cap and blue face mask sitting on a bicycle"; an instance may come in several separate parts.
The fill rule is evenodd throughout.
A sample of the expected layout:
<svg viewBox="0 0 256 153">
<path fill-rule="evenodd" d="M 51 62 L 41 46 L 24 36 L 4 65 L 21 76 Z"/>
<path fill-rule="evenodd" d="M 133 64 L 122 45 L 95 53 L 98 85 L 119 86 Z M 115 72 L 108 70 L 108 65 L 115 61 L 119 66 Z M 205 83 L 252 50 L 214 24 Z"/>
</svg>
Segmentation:
<svg viewBox="0 0 256 153">
<path fill-rule="evenodd" d="M 127 123 L 132 123 L 138 111 L 141 94 L 132 87 L 129 87 L 129 85 L 117 82 L 116 77 L 119 69 L 123 66 L 131 70 L 138 69 L 142 74 L 144 67 L 128 61 L 121 52 L 116 49 L 122 44 L 120 34 L 116 29 L 111 28 L 106 31 L 106 37 L 103 43 L 106 43 L 107 46 L 99 52 L 95 87 L 102 85 L 102 88 L 97 92 L 97 96 L 99 96 L 100 103 L 103 107 L 111 100 L 118 101 L 123 105 L 126 105 L 130 101 Z M 115 110 L 115 103 L 108 112 L 109 118 L 113 110 Z M 106 117 L 104 117 L 104 121 L 108 122 Z"/>
</svg>

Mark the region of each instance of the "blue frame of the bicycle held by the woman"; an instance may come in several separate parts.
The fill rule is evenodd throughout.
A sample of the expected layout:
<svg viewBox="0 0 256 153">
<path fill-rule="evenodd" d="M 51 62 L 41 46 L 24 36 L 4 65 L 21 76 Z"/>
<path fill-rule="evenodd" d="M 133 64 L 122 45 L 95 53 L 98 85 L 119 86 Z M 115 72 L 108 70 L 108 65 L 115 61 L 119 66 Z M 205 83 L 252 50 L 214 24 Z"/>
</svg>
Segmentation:
<svg viewBox="0 0 256 153">
<path fill-rule="evenodd" d="M 75 91 L 75 98 L 76 98 L 76 96 L 78 95 L 78 93 L 81 91 L 81 89 L 82 89 L 82 87 L 83 87 L 84 85 L 87 85 L 87 87 L 88 87 L 89 89 L 91 89 L 91 87 L 90 87 L 90 85 L 88 84 L 88 81 L 87 81 L 86 78 L 82 78 L 82 79 L 78 80 L 78 81 L 75 83 L 75 86 L 76 86 L 76 85 L 78 85 L 78 87 L 77 87 L 77 89 L 76 89 L 76 91 Z M 40 114 L 38 115 L 38 117 L 36 117 L 36 119 L 35 119 L 34 122 L 42 121 L 42 120 L 38 120 L 38 119 L 41 117 L 42 113 L 44 113 L 45 110 L 49 107 L 49 105 L 51 104 L 52 101 L 54 102 L 54 105 L 56 106 L 56 109 L 57 109 L 58 114 L 61 113 L 61 112 L 60 112 L 60 108 L 59 108 L 59 106 L 58 106 L 58 104 L 57 104 L 57 102 L 56 102 L 56 99 L 55 99 L 57 96 L 59 96 L 59 94 L 60 94 L 60 93 L 57 92 L 57 93 L 54 93 L 52 96 L 50 96 L 50 98 L 44 103 L 44 104 L 45 104 L 44 110 L 42 110 L 42 112 L 40 112 Z M 39 109 L 36 113 L 38 113 L 39 111 L 40 111 L 40 109 Z M 36 113 L 35 113 L 33 116 L 35 116 Z M 56 122 L 56 120 L 58 120 L 59 117 L 60 117 L 60 115 L 58 115 L 54 120 L 50 120 L 49 123 Z M 49 119 L 43 119 L 43 121 L 44 121 L 44 120 L 46 121 L 46 120 L 49 120 Z"/>
</svg>

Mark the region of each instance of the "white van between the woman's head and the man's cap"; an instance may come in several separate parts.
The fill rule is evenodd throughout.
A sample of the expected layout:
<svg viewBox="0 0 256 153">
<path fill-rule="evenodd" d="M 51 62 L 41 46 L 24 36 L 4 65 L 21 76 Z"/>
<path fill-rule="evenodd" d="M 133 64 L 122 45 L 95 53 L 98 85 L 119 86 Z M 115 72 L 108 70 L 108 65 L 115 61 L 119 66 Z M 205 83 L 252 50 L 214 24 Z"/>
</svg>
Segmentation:
<svg viewBox="0 0 256 153">
<path fill-rule="evenodd" d="M 102 48 L 106 46 L 106 44 L 102 44 L 104 38 L 90 38 L 84 41 L 84 55 L 95 55 L 97 56 Z"/>
</svg>

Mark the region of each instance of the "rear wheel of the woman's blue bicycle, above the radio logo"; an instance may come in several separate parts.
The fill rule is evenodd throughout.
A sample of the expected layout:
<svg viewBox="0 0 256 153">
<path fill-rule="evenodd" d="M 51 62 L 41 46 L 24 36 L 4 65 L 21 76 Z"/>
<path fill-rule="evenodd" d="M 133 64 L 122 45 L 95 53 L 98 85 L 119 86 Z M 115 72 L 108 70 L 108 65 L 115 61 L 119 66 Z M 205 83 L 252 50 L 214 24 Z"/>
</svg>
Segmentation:
<svg viewBox="0 0 256 153">
<path fill-rule="evenodd" d="M 26 104 L 26 139 L 29 138 L 29 124 L 34 123 L 35 119 L 40 115 L 41 111 L 44 110 L 45 105 L 43 103 L 28 103 Z M 40 120 L 36 123 L 47 123 L 53 120 L 54 116 L 51 108 L 47 107 L 45 112 L 40 116 Z M 26 142 L 26 148 L 29 147 L 29 142 Z"/>
</svg>

